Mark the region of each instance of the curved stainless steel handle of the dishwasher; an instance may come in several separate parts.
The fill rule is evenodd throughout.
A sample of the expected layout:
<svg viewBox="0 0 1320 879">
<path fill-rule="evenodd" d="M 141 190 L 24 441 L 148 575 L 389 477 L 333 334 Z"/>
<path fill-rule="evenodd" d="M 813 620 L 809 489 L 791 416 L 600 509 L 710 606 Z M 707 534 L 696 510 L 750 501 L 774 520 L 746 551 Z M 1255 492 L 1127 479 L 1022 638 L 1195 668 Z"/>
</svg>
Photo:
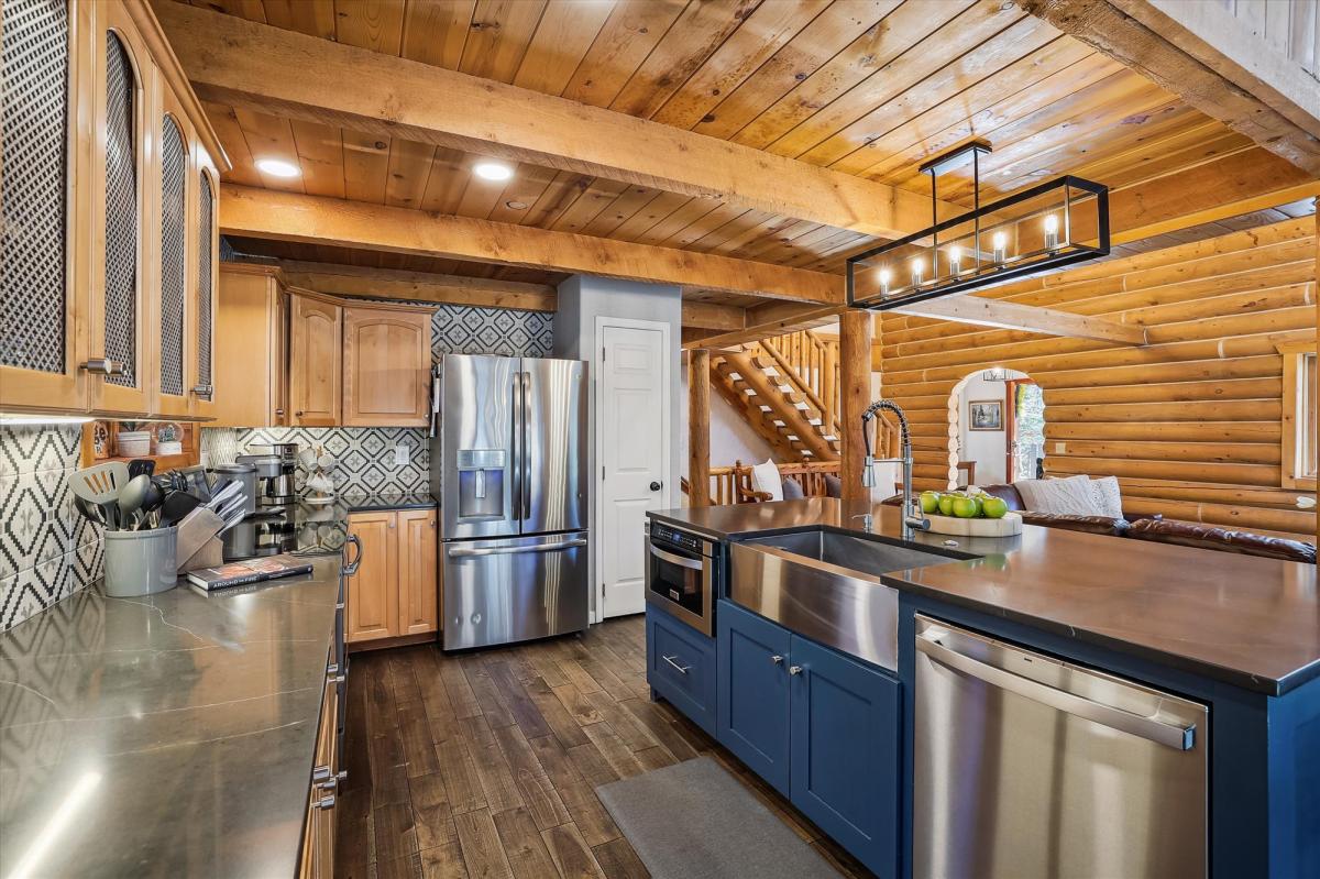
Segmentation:
<svg viewBox="0 0 1320 879">
<path fill-rule="evenodd" d="M 994 665 L 975 660 L 966 653 L 949 649 L 939 640 L 935 640 L 928 635 L 917 635 L 916 649 L 954 670 L 970 674 L 972 677 L 977 677 L 991 686 L 998 686 L 1002 690 L 1016 693 L 1018 696 L 1040 702 L 1041 705 L 1048 705 L 1057 711 L 1074 714 L 1093 723 L 1121 730 L 1177 751 L 1191 751 L 1192 746 L 1196 743 L 1195 723 L 1191 726 L 1166 723 L 1152 717 L 1133 714 L 1131 711 L 1125 711 L 1122 709 L 1113 707 L 1111 705 L 1104 705 L 1102 702 L 1096 702 L 1067 690 L 1060 690 L 1047 684 L 1032 681 L 1031 678 L 1022 677 L 1020 674 L 1006 672 L 1002 668 L 995 668 Z"/>
</svg>

